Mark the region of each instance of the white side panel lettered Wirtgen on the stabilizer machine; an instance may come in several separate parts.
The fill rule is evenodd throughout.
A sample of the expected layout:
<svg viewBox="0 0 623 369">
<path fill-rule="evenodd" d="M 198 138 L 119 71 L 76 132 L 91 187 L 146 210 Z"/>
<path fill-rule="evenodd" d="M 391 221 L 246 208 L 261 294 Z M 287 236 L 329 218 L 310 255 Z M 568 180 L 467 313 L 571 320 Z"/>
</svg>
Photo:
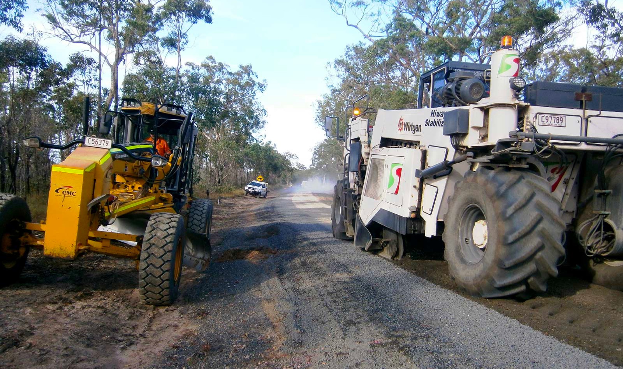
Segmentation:
<svg viewBox="0 0 623 369">
<path fill-rule="evenodd" d="M 454 158 L 455 150 L 450 144 L 450 137 L 443 135 L 444 113 L 452 109 L 454 108 L 379 110 L 359 208 L 364 225 L 368 226 L 381 209 L 405 218 L 409 217 L 411 212 L 417 212 L 426 221 L 426 236 L 437 234 L 437 221 L 443 220 L 447 211 L 447 198 L 454 191 L 454 187 L 446 188 L 447 183 L 449 180 L 450 183 L 460 180 L 469 166 L 467 163 L 460 163 L 454 166 L 449 176 L 428 178 L 423 181 L 416 178 L 415 170 L 426 169 Z M 380 147 L 381 137 L 383 140 L 397 140 L 404 144 L 400 147 Z M 384 142 L 384 145 L 388 143 Z M 412 154 L 408 155 L 411 152 Z M 382 178 L 381 172 L 373 168 L 381 161 Z M 389 180 L 391 176 L 396 176 L 396 169 L 400 164 L 402 165 L 400 188 L 397 193 L 392 193 L 391 186 L 388 188 Z M 377 184 L 379 181 L 382 186 Z M 379 190 L 382 191 L 382 196 L 378 196 Z M 372 196 L 367 196 L 370 194 Z M 399 202 L 399 199 L 402 199 L 402 202 Z M 422 201 L 422 206 L 419 201 Z"/>
</svg>

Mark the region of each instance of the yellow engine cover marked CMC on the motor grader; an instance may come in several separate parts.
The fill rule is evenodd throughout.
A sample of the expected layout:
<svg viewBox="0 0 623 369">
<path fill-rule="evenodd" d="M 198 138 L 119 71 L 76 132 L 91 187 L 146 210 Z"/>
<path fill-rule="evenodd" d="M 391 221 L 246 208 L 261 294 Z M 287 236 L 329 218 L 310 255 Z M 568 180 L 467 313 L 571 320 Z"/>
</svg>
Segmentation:
<svg viewBox="0 0 623 369">
<path fill-rule="evenodd" d="M 112 159 L 106 149 L 80 146 L 52 166 L 44 254 L 75 259 L 87 244 L 91 216 L 87 204 L 110 190 Z"/>
</svg>

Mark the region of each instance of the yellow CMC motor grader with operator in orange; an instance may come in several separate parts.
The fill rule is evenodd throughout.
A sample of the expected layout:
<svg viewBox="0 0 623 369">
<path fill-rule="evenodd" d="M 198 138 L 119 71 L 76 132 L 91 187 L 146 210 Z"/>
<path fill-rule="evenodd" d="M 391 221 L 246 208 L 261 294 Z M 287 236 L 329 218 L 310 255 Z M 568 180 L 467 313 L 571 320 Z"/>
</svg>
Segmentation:
<svg viewBox="0 0 623 369">
<path fill-rule="evenodd" d="M 85 100 L 83 138 L 65 145 L 29 137 L 31 148 L 66 150 L 52 165 L 47 219 L 34 223 L 24 199 L 0 194 L 0 284 L 22 271 L 30 247 L 45 256 L 76 259 L 85 252 L 135 259 L 141 301 L 170 305 L 182 266 L 209 264 L 212 203 L 193 199 L 193 114 L 173 104 L 124 98 L 88 136 Z M 162 144 L 163 140 L 166 144 Z M 166 146 L 166 152 L 162 147 Z"/>
</svg>

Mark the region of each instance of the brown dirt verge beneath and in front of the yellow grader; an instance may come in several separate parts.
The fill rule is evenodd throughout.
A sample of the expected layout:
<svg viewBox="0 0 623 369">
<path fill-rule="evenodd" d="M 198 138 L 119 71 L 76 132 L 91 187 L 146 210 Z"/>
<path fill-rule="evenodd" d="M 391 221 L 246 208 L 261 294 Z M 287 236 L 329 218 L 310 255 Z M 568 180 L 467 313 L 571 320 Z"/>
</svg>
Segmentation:
<svg viewBox="0 0 623 369">
<path fill-rule="evenodd" d="M 222 257 L 221 231 L 263 201 L 214 201 L 214 257 Z M 146 367 L 196 334 L 201 310 L 184 294 L 201 277 L 185 268 L 176 304 L 151 307 L 139 303 L 132 261 L 87 254 L 70 262 L 31 251 L 19 283 L 0 289 L 0 368 Z"/>
</svg>

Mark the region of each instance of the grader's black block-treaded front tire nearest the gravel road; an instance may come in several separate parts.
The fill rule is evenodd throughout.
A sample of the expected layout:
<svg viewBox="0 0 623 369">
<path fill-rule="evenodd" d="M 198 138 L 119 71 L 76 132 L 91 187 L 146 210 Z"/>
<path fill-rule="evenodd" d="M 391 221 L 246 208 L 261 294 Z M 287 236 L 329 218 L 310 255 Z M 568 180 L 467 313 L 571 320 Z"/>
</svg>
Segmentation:
<svg viewBox="0 0 623 369">
<path fill-rule="evenodd" d="M 143 304 L 171 305 L 178 297 L 185 231 L 179 214 L 151 215 L 138 263 L 138 292 Z"/>
</svg>

